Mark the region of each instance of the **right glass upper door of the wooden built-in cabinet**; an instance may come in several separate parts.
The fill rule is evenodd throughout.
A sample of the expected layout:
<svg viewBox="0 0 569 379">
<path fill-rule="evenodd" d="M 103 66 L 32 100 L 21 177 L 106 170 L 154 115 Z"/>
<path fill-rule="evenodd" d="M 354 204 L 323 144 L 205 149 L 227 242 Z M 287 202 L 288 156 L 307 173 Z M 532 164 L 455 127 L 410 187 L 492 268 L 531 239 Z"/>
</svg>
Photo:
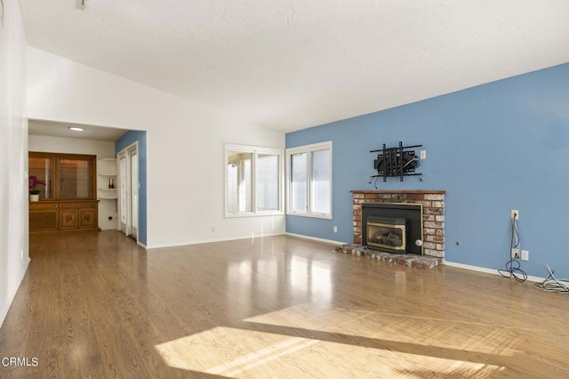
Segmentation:
<svg viewBox="0 0 569 379">
<path fill-rule="evenodd" d="M 58 198 L 92 198 L 92 159 L 58 158 L 58 169 Z"/>
</svg>

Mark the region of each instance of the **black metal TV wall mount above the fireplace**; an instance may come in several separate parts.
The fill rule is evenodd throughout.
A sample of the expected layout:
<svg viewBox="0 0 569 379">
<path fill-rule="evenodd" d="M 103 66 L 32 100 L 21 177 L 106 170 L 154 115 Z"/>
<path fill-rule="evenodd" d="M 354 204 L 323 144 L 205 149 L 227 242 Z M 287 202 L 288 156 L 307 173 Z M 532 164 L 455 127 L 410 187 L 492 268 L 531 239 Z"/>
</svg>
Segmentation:
<svg viewBox="0 0 569 379">
<path fill-rule="evenodd" d="M 380 152 L 377 159 L 373 160 L 373 168 L 377 173 L 371 177 L 383 177 L 383 181 L 387 181 L 388 177 L 398 176 L 399 181 L 403 181 L 404 176 L 419 176 L 421 180 L 421 173 L 415 173 L 419 167 L 419 158 L 413 150 L 409 150 L 421 146 L 423 145 L 403 146 L 403 142 L 399 141 L 397 148 L 386 148 L 384 143 L 383 149 L 371 150 L 370 153 Z"/>
</svg>

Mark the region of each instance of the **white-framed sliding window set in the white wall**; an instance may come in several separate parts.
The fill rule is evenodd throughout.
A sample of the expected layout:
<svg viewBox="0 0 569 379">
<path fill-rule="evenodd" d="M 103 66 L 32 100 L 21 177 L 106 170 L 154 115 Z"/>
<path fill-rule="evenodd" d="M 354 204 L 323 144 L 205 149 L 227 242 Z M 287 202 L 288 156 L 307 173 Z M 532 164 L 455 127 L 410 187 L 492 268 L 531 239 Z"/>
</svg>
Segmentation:
<svg viewBox="0 0 569 379">
<path fill-rule="evenodd" d="M 226 217 L 283 214 L 282 149 L 226 145 Z"/>
</svg>

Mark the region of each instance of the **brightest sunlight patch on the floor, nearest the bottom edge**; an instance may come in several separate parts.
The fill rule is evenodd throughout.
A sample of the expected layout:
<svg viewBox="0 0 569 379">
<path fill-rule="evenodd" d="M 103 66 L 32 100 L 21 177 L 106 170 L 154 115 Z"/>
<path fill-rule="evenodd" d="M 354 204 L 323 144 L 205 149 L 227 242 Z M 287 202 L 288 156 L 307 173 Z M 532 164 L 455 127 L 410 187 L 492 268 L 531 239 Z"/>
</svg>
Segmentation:
<svg viewBox="0 0 569 379">
<path fill-rule="evenodd" d="M 502 368 L 232 327 L 215 327 L 155 348 L 170 367 L 228 377 L 491 375 Z"/>
</svg>

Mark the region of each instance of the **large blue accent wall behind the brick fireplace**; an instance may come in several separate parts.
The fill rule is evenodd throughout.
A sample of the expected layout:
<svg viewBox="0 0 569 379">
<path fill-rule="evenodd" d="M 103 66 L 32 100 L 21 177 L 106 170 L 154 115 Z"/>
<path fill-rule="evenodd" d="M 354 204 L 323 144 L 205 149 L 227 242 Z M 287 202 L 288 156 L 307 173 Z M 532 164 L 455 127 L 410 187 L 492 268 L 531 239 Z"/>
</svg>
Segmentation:
<svg viewBox="0 0 569 379">
<path fill-rule="evenodd" d="M 349 191 L 375 189 L 369 151 L 422 144 L 423 181 L 380 179 L 377 189 L 446 190 L 447 261 L 504 268 L 517 209 L 530 252 L 522 269 L 546 277 L 549 263 L 569 277 L 569 64 L 286 135 L 287 148 L 320 141 L 333 141 L 333 220 L 287 215 L 287 232 L 351 242 Z"/>
</svg>

